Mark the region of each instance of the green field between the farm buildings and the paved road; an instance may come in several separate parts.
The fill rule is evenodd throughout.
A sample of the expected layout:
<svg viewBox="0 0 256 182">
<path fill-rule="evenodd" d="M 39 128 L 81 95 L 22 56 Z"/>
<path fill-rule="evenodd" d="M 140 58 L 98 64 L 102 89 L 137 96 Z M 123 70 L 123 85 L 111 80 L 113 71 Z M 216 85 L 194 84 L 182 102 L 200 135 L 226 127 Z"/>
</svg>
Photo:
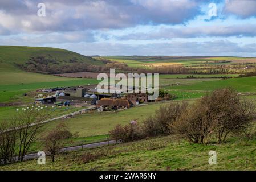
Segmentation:
<svg viewBox="0 0 256 182">
<path fill-rule="evenodd" d="M 52 121 L 47 123 L 44 125 L 44 130 L 53 129 L 59 122 L 65 122 L 72 133 L 78 132 L 79 137 L 108 134 L 108 131 L 113 129 L 117 124 L 126 125 L 131 119 L 138 119 L 138 122 L 142 122 L 143 119 L 147 118 L 149 115 L 155 114 L 155 110 L 159 109 L 160 105 L 162 104 L 149 104 L 132 107 L 124 111 L 95 111 L 76 115 L 64 121 Z"/>
</svg>

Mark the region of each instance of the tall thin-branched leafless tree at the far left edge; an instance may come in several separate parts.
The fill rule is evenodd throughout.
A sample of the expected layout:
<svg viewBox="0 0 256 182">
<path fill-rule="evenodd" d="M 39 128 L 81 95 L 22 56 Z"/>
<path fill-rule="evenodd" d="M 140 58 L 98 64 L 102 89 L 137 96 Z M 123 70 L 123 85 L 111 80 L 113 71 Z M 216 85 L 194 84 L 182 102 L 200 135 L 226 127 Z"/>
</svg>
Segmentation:
<svg viewBox="0 0 256 182">
<path fill-rule="evenodd" d="M 36 139 L 42 122 L 48 118 L 44 111 L 26 110 L 0 124 L 0 158 L 2 163 L 21 162 Z"/>
</svg>

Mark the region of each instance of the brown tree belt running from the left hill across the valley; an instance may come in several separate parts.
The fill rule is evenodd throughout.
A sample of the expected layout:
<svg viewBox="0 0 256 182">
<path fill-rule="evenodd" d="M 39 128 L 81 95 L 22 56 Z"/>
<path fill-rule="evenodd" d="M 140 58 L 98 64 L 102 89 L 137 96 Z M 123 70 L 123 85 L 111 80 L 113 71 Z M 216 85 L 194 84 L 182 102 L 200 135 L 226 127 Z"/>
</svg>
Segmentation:
<svg viewBox="0 0 256 182">
<path fill-rule="evenodd" d="M 88 57 L 89 60 L 95 61 Z M 60 61 L 51 55 L 41 55 L 30 57 L 25 64 L 16 64 L 19 68 L 28 72 L 58 74 L 58 73 L 74 73 L 74 72 L 96 72 L 109 73 L 110 68 L 115 68 L 116 72 L 122 73 L 159 73 L 159 74 L 230 74 L 255 71 L 252 64 L 226 64 L 226 65 L 165 65 L 161 67 L 150 68 L 132 68 L 125 63 L 117 63 L 107 59 L 101 59 L 103 65 L 89 64 L 83 60 L 72 57 L 68 60 Z"/>
</svg>

